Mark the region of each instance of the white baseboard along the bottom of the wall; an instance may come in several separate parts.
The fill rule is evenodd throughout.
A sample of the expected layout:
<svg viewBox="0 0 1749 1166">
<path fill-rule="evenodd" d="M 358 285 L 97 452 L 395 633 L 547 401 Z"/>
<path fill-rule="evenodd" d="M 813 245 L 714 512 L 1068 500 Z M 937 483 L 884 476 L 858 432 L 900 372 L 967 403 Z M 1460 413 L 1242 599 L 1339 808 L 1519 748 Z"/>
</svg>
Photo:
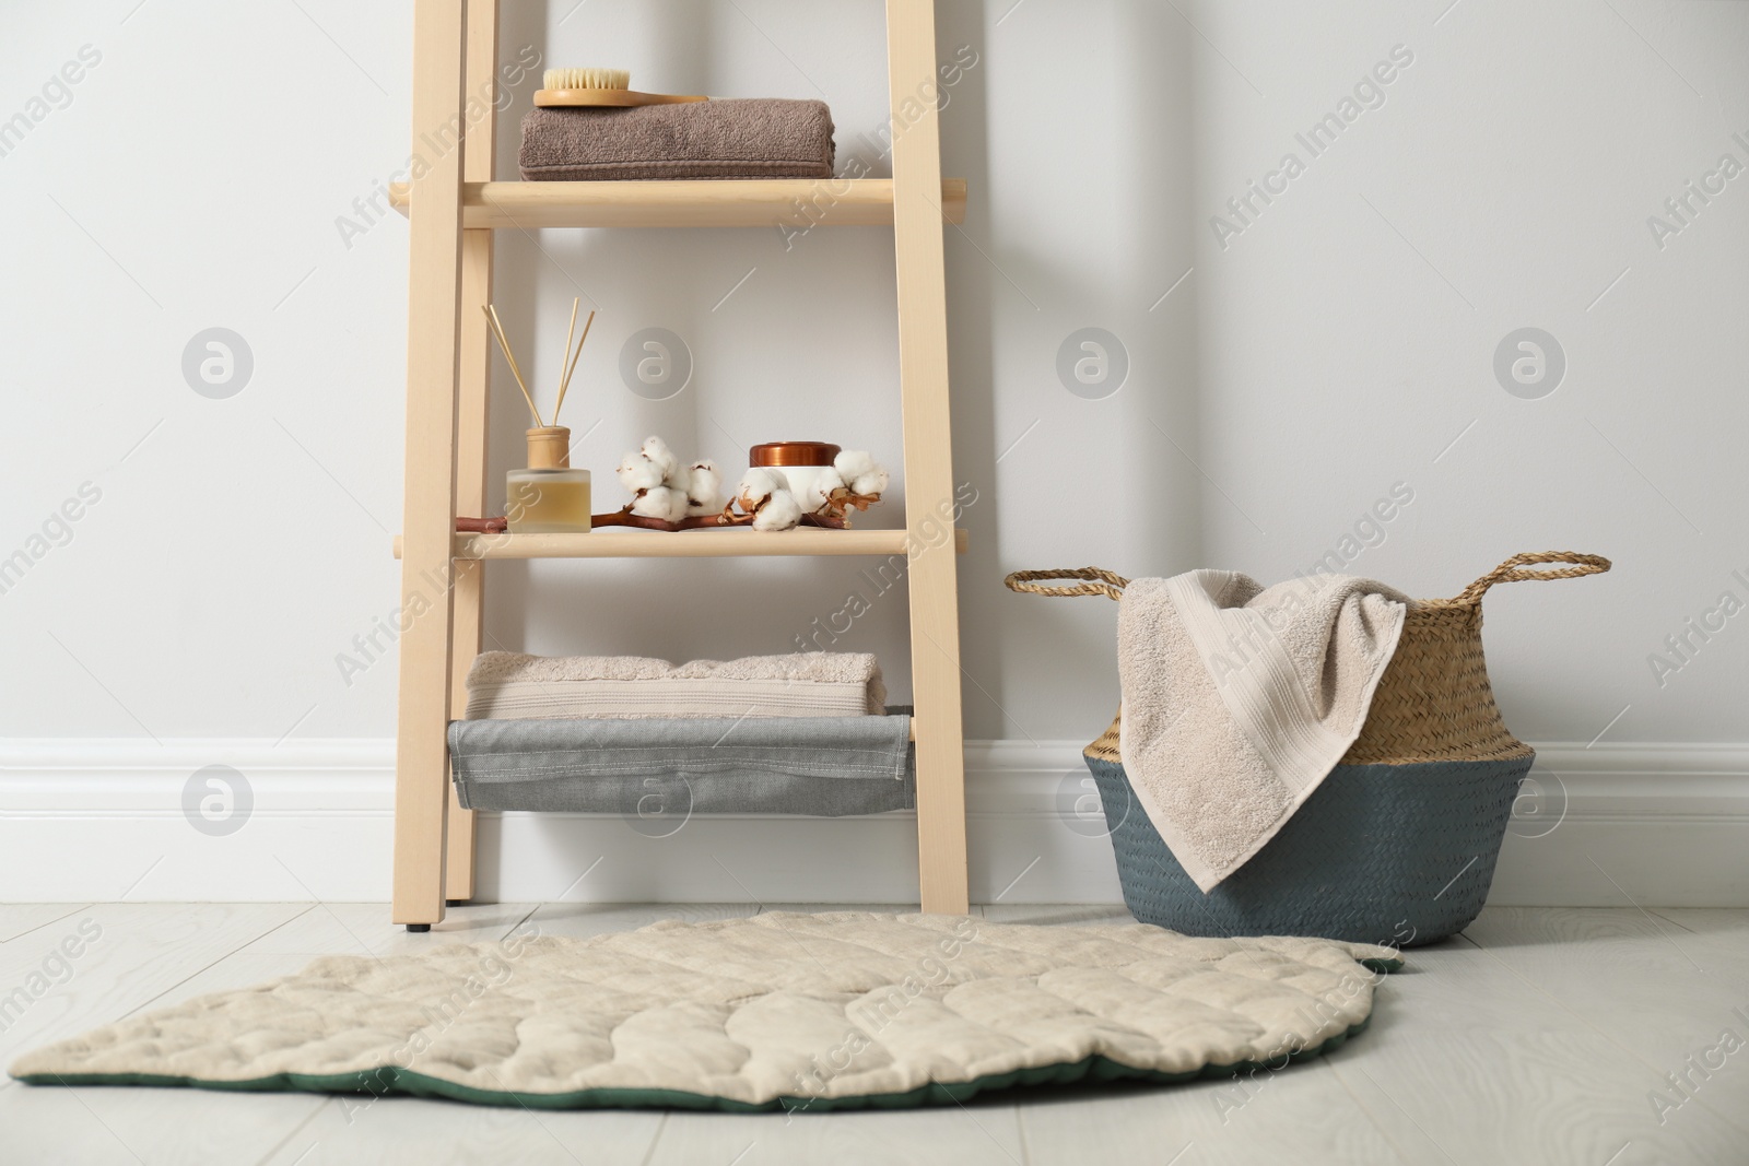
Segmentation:
<svg viewBox="0 0 1749 1166">
<path fill-rule="evenodd" d="M 182 811 L 215 764 L 254 799 L 224 837 Z M 974 902 L 1121 902 L 1111 844 L 1072 829 L 1079 743 L 969 741 L 965 766 Z M 1749 906 L 1749 746 L 1546 745 L 1534 776 L 1543 816 L 1515 822 L 1492 904 Z M 392 741 L 5 739 L 0 900 L 387 900 L 392 806 Z M 911 815 L 698 816 L 663 839 L 612 815 L 483 815 L 479 855 L 481 899 L 916 897 Z"/>
</svg>

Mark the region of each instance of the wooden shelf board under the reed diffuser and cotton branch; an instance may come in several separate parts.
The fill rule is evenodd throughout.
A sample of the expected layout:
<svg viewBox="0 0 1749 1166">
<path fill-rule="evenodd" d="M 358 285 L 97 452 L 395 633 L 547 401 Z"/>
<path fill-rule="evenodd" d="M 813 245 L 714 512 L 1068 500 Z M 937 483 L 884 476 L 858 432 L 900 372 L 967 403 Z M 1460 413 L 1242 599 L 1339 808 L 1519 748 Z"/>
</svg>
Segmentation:
<svg viewBox="0 0 1749 1166">
<path fill-rule="evenodd" d="M 588 535 L 456 535 L 458 559 L 724 559 L 763 556 L 904 554 L 902 530 L 595 530 Z M 967 531 L 955 531 L 965 554 Z M 395 535 L 401 558 L 401 535 Z"/>
</svg>

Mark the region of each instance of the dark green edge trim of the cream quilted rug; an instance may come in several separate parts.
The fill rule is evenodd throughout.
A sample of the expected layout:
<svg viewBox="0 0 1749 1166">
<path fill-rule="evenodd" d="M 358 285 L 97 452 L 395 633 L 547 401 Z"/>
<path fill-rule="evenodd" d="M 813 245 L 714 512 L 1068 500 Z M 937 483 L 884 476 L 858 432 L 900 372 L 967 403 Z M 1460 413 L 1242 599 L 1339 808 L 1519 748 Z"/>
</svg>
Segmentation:
<svg viewBox="0 0 1749 1166">
<path fill-rule="evenodd" d="M 1396 972 L 1401 960 L 1361 960 L 1369 972 Z M 1347 1044 L 1348 1037 L 1366 1031 L 1368 1016 L 1347 1031 L 1322 1044 L 1287 1054 L 1286 1061 L 1235 1061 L 1231 1065 L 1205 1065 L 1184 1073 L 1163 1073 L 1153 1068 L 1135 1068 L 1107 1056 L 1090 1056 L 1083 1061 L 1041 1065 L 1009 1073 L 988 1073 L 964 1082 L 930 1082 L 906 1093 L 866 1093 L 848 1098 L 778 1096 L 771 1101 L 735 1101 L 707 1093 L 682 1089 L 575 1089 L 572 1093 L 511 1093 L 502 1089 L 474 1089 L 451 1080 L 427 1077 L 408 1068 L 383 1065 L 353 1073 L 275 1073 L 254 1080 L 203 1080 L 199 1077 L 166 1077 L 159 1073 L 30 1073 L 19 1080 L 31 1086 L 156 1086 L 182 1089 L 234 1089 L 238 1093 L 338 1093 L 360 1096 L 411 1096 L 469 1101 L 472 1105 L 516 1105 L 530 1110 L 717 1110 L 722 1114 L 827 1112 L 827 1110 L 904 1110 L 923 1105 L 958 1105 L 979 1093 L 1021 1089 L 1030 1086 L 1100 1086 L 1114 1080 L 1137 1080 L 1153 1086 L 1181 1086 L 1198 1079 L 1240 1077 L 1245 1073 L 1275 1072 L 1289 1063 L 1310 1061 Z"/>
</svg>

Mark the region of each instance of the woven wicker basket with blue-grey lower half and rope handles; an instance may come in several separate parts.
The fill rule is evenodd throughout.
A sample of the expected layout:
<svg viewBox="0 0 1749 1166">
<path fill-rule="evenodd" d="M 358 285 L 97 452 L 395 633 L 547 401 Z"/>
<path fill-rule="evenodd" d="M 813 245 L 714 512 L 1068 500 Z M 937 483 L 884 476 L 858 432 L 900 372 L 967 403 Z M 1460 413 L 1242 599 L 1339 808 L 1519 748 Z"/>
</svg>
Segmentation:
<svg viewBox="0 0 1749 1166">
<path fill-rule="evenodd" d="M 1532 563 L 1571 566 L 1523 570 Z M 1189 935 L 1322 935 L 1397 947 L 1462 930 L 1488 897 L 1513 797 L 1536 759 L 1494 703 L 1481 596 L 1499 582 L 1606 570 L 1609 559 L 1595 554 L 1518 554 L 1455 598 L 1410 607 L 1361 736 L 1280 832 L 1209 893 L 1135 799 L 1118 752 L 1119 708 L 1084 757 L 1130 913 Z M 1112 600 L 1128 584 L 1097 566 L 1014 572 L 1006 582 L 1030 594 Z"/>
</svg>

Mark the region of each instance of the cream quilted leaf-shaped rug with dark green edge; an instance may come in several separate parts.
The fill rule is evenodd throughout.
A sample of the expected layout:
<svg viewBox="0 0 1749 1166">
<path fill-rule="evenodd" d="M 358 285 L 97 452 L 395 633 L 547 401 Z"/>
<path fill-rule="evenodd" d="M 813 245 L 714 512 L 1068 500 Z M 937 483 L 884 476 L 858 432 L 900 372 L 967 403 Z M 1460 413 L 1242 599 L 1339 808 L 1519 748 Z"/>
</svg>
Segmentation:
<svg viewBox="0 0 1749 1166">
<path fill-rule="evenodd" d="M 327 956 L 23 1056 L 31 1084 L 833 1110 L 1277 1070 L 1366 1026 L 1397 953 L 1147 925 L 759 914 Z"/>
</svg>

